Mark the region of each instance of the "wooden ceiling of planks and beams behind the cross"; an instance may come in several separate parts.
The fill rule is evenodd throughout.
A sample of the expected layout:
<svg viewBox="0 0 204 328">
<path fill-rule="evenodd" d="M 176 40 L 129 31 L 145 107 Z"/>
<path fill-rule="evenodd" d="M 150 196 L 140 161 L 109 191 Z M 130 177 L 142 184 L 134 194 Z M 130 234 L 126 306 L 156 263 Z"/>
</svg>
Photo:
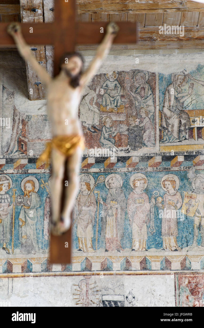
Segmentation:
<svg viewBox="0 0 204 328">
<path fill-rule="evenodd" d="M 151 0 L 151 2 L 149 0 L 77 0 L 77 8 L 76 19 L 81 22 L 138 22 L 140 41 L 136 45 L 113 45 L 113 49 L 204 47 L 204 4 L 201 3 L 190 0 Z M 0 22 L 47 23 L 53 20 L 53 0 L 0 0 Z M 159 26 L 164 24 L 185 26 L 184 36 L 159 34 Z M 53 74 L 53 47 L 32 45 L 31 48 L 34 49 L 33 55 L 40 64 Z M 77 48 L 94 50 L 96 46 L 83 45 Z M 28 98 L 44 99 L 43 84 L 28 64 L 26 64 L 26 73 Z"/>
</svg>

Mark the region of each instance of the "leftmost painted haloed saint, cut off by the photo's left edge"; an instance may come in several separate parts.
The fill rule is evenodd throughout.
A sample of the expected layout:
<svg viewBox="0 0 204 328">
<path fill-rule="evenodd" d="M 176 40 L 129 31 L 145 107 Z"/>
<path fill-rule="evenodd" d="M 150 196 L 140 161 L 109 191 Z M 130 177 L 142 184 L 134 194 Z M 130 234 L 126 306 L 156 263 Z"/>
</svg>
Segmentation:
<svg viewBox="0 0 204 328">
<path fill-rule="evenodd" d="M 12 187 L 11 178 L 8 175 L 0 176 L 0 241 L 3 242 L 3 251 L 10 254 L 7 243 L 10 240 L 10 223 L 11 208 L 15 203 L 11 204 L 11 197 L 7 193 Z"/>
</svg>

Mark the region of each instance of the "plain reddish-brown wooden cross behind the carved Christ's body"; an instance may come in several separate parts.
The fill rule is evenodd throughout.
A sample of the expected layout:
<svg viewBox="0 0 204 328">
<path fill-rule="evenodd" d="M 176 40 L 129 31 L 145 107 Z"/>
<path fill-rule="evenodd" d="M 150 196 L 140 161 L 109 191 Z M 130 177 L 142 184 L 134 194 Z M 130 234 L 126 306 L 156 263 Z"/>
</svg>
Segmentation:
<svg viewBox="0 0 204 328">
<path fill-rule="evenodd" d="M 25 41 L 28 44 L 50 44 L 54 46 L 54 72 L 56 75 L 59 73 L 59 58 L 63 53 L 74 51 L 76 44 L 100 43 L 103 39 L 107 23 L 78 22 L 76 24 L 75 0 L 55 0 L 54 11 L 54 23 L 23 23 L 21 24 L 21 29 Z M 120 31 L 114 42 L 119 44 L 135 44 L 137 41 L 136 23 L 117 24 Z M 8 23 L 0 23 L 0 46 L 8 47 L 8 45 L 14 44 L 13 38 L 7 33 L 8 25 Z M 101 28 L 103 28 L 104 33 L 101 33 Z M 68 247 L 66 247 L 67 242 Z M 51 235 L 50 262 L 71 262 L 71 229 L 60 237 Z"/>
</svg>

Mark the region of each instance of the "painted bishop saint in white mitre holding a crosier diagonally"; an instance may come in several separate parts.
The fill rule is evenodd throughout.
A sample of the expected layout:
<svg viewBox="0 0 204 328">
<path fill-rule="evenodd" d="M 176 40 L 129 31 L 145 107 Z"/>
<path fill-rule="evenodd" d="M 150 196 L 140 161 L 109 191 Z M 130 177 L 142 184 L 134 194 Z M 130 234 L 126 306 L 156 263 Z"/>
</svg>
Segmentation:
<svg viewBox="0 0 204 328">
<path fill-rule="evenodd" d="M 76 236 L 78 237 L 78 251 L 83 251 L 87 253 L 95 252 L 93 249 L 92 238 L 93 238 L 93 225 L 95 220 L 96 212 L 96 199 L 94 194 L 89 197 L 86 206 L 84 206 L 90 192 L 91 185 L 93 187 L 94 179 L 91 174 L 81 174 L 80 175 L 80 192 L 76 198 L 75 208 L 74 208 L 74 218 L 78 215 L 79 211 L 82 209 L 78 219 L 77 219 L 77 229 Z"/>
</svg>

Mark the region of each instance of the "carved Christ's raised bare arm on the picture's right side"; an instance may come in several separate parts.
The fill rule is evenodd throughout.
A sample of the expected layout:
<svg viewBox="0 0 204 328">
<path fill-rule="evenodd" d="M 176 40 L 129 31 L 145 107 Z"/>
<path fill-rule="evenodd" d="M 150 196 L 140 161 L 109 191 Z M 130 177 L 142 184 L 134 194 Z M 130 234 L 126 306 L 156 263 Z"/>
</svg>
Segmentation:
<svg viewBox="0 0 204 328">
<path fill-rule="evenodd" d="M 110 23 L 107 26 L 106 35 L 97 49 L 95 58 L 90 64 L 89 68 L 81 75 L 80 85 L 82 87 L 84 87 L 85 84 L 87 84 L 92 79 L 93 75 L 97 72 L 104 57 L 109 53 L 113 39 L 115 38 L 118 31 L 119 27 L 115 23 Z"/>
</svg>

